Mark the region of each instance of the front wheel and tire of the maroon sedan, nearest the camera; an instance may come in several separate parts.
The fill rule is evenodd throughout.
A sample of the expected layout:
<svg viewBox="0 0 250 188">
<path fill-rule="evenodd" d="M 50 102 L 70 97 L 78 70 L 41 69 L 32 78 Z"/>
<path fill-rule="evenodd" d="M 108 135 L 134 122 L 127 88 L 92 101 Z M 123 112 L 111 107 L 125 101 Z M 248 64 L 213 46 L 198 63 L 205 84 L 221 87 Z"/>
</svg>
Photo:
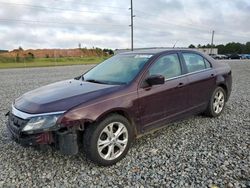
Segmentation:
<svg viewBox="0 0 250 188">
<path fill-rule="evenodd" d="M 130 122 L 119 114 L 112 114 L 84 130 L 83 149 L 92 162 L 110 166 L 125 157 L 133 140 Z"/>
</svg>

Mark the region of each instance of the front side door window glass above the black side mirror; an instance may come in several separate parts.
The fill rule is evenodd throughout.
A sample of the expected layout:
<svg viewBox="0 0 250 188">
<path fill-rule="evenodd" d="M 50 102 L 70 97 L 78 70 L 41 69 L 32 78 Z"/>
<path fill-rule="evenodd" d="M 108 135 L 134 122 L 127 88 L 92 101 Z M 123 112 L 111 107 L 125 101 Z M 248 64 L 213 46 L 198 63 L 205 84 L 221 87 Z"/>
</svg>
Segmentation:
<svg viewBox="0 0 250 188">
<path fill-rule="evenodd" d="M 149 69 L 149 75 L 162 75 L 165 79 L 181 75 L 181 65 L 177 54 L 160 57 Z"/>
</svg>

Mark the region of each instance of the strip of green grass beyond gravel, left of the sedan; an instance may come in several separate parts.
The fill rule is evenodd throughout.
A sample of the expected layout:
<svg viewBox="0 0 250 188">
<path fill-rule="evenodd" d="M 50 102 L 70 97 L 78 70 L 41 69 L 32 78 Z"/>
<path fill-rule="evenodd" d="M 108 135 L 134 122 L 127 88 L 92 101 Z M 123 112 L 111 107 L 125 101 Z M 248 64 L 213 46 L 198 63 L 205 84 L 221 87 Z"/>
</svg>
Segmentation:
<svg viewBox="0 0 250 188">
<path fill-rule="evenodd" d="M 56 59 L 34 58 L 20 59 L 19 62 L 15 62 L 15 59 L 6 59 L 0 57 L 0 69 L 97 64 L 107 58 L 108 57 L 63 57 Z"/>
</svg>

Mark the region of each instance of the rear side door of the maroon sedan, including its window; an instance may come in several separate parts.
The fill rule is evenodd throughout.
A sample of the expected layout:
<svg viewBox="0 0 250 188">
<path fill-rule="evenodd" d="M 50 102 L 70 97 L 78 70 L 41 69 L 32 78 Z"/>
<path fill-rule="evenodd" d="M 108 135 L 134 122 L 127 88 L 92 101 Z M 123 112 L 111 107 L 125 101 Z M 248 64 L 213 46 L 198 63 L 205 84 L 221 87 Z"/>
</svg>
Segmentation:
<svg viewBox="0 0 250 188">
<path fill-rule="evenodd" d="M 197 53 L 182 53 L 187 69 L 188 106 L 194 110 L 206 108 L 215 89 L 215 71 L 211 63 Z"/>
</svg>

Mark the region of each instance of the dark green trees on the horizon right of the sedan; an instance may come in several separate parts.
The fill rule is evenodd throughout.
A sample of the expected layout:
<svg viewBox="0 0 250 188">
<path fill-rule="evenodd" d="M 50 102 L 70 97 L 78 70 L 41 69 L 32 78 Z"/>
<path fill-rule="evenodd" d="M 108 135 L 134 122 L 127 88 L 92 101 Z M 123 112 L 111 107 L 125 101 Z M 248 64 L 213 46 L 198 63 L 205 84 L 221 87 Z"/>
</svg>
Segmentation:
<svg viewBox="0 0 250 188">
<path fill-rule="evenodd" d="M 197 46 L 190 44 L 189 48 L 211 48 L 211 44 Z M 218 48 L 219 54 L 250 54 L 250 42 L 245 44 L 239 42 L 229 42 L 226 45 L 213 45 L 213 48 Z"/>
</svg>

